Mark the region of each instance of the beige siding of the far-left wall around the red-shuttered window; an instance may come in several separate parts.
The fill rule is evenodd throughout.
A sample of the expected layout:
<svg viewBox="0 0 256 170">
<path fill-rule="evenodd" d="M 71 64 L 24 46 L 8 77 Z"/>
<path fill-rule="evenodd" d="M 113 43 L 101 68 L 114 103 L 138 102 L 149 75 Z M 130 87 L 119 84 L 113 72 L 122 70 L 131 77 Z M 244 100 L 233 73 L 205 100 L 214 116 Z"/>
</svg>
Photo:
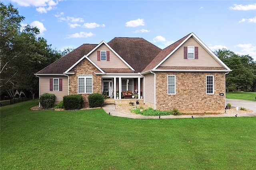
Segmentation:
<svg viewBox="0 0 256 170">
<path fill-rule="evenodd" d="M 50 91 L 50 79 L 51 78 L 62 78 L 62 91 Z M 56 102 L 58 104 L 63 100 L 63 96 L 68 95 L 68 77 L 67 76 L 40 76 L 40 94 L 44 93 L 55 94 Z"/>
</svg>

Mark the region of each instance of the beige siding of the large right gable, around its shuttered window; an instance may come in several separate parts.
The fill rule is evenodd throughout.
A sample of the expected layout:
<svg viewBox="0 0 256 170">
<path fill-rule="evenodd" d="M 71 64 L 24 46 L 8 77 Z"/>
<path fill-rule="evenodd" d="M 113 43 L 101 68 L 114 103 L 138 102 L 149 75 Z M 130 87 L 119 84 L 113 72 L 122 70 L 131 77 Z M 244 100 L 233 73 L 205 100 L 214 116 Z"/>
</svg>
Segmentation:
<svg viewBox="0 0 256 170">
<path fill-rule="evenodd" d="M 198 59 L 184 59 L 184 47 L 198 47 Z M 190 37 L 160 66 L 221 67 L 221 65 L 193 38 Z"/>
</svg>

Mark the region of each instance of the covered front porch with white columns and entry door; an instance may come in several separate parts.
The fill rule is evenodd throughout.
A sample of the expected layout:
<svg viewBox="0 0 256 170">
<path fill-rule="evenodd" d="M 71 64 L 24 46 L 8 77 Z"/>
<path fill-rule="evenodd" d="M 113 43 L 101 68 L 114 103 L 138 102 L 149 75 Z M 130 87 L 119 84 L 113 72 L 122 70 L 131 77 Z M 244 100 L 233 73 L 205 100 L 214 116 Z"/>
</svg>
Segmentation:
<svg viewBox="0 0 256 170">
<path fill-rule="evenodd" d="M 144 78 L 140 74 L 105 74 L 102 75 L 102 94 L 109 99 L 142 99 Z"/>
</svg>

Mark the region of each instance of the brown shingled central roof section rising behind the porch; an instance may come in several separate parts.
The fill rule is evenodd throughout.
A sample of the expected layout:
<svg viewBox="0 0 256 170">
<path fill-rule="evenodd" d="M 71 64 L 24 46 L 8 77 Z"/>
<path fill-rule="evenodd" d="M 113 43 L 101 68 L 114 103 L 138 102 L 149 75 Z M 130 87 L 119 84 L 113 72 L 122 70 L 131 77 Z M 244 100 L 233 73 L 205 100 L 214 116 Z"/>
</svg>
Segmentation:
<svg viewBox="0 0 256 170">
<path fill-rule="evenodd" d="M 162 49 L 143 38 L 115 37 L 108 42 L 108 45 L 134 68 L 134 72 L 142 72 L 162 51 Z"/>
</svg>

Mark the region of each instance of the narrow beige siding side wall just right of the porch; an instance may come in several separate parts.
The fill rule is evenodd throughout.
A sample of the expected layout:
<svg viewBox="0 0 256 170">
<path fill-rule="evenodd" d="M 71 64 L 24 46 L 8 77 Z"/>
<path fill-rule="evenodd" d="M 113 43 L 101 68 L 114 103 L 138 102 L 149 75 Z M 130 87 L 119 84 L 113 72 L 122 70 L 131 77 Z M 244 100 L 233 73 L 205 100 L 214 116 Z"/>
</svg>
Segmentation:
<svg viewBox="0 0 256 170">
<path fill-rule="evenodd" d="M 145 102 L 154 104 L 154 74 L 145 75 L 144 97 Z"/>
</svg>

